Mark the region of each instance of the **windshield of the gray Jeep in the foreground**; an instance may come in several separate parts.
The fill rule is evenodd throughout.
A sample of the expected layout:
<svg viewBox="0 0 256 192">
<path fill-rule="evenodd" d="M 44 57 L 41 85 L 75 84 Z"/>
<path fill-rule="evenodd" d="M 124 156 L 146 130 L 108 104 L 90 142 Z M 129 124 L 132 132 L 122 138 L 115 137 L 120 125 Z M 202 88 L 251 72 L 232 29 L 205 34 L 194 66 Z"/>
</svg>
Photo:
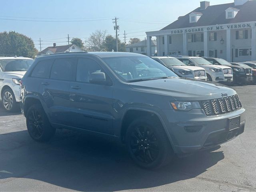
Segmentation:
<svg viewBox="0 0 256 192">
<path fill-rule="evenodd" d="M 170 69 L 149 57 L 110 57 L 102 60 L 124 82 L 178 77 Z"/>
</svg>

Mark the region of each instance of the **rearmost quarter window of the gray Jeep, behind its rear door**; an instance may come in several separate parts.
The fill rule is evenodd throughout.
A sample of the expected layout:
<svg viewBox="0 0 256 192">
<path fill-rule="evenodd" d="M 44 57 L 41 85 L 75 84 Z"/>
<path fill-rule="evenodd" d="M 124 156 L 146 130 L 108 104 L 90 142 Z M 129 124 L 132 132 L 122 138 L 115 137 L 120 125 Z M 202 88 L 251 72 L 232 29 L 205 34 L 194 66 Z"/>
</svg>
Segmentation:
<svg viewBox="0 0 256 192">
<path fill-rule="evenodd" d="M 44 60 L 38 62 L 34 70 L 32 71 L 31 76 L 37 78 L 49 78 L 50 77 L 50 70 L 52 67 L 53 60 Z"/>
</svg>

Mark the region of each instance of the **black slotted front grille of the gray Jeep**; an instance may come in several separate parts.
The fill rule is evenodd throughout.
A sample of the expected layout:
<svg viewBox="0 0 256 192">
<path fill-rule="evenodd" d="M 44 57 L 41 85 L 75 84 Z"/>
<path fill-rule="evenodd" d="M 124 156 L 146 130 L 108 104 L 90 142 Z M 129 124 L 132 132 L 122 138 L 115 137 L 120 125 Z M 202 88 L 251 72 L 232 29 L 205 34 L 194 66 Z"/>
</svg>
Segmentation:
<svg viewBox="0 0 256 192">
<path fill-rule="evenodd" d="M 202 101 L 201 106 L 207 116 L 228 113 L 242 107 L 237 95 Z"/>
</svg>

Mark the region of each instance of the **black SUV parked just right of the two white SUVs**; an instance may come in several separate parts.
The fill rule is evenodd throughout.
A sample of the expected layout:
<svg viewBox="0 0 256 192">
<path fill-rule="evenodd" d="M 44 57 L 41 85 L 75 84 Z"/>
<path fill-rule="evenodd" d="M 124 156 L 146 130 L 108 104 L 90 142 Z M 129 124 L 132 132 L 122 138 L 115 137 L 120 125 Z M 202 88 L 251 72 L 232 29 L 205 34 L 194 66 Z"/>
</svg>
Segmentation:
<svg viewBox="0 0 256 192">
<path fill-rule="evenodd" d="M 225 65 L 232 68 L 233 84 L 250 84 L 252 83 L 252 69 L 245 66 L 234 66 L 221 58 L 204 57 L 206 60 L 215 65 Z"/>
</svg>

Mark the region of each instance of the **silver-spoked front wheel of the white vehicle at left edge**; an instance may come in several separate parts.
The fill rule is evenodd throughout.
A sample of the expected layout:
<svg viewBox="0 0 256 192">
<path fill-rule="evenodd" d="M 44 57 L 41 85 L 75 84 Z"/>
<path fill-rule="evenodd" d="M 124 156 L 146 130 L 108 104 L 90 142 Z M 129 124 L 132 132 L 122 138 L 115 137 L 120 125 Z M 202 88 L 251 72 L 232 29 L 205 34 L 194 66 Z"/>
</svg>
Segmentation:
<svg viewBox="0 0 256 192">
<path fill-rule="evenodd" d="M 6 88 L 2 93 L 2 106 L 7 112 L 17 112 L 19 109 L 13 91 Z"/>
</svg>

